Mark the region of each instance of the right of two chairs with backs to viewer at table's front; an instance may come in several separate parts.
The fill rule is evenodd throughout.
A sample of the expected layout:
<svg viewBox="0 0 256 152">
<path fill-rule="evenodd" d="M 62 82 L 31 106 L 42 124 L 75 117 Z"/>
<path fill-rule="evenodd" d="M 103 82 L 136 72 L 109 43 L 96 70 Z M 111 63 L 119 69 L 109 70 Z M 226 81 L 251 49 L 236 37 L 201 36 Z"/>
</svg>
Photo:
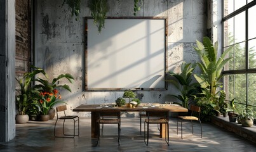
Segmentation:
<svg viewBox="0 0 256 152">
<path fill-rule="evenodd" d="M 149 124 L 165 124 L 165 141 L 169 146 L 169 111 L 159 110 L 159 111 L 147 111 L 146 119 L 144 122 L 144 142 L 146 145 L 149 145 Z M 147 142 L 145 141 L 145 126 L 147 124 Z M 167 140 L 166 140 L 167 137 Z"/>
</svg>

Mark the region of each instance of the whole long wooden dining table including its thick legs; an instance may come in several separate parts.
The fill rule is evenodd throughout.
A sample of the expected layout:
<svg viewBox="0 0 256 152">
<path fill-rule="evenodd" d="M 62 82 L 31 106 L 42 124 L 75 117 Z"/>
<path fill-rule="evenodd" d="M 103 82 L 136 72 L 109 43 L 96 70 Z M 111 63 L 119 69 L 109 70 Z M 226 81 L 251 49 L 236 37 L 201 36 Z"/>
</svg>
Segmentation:
<svg viewBox="0 0 256 152">
<path fill-rule="evenodd" d="M 121 106 L 116 107 L 114 105 L 80 105 L 74 108 L 72 111 L 76 112 L 91 112 L 91 138 L 98 137 L 98 125 L 97 120 L 99 118 L 98 113 L 100 111 L 126 111 L 126 112 L 146 112 L 146 111 L 170 111 L 170 112 L 187 112 L 187 108 L 180 105 L 163 105 L 163 104 L 142 104 L 134 108 Z M 160 137 L 165 137 L 165 125 L 160 126 Z"/>
</svg>

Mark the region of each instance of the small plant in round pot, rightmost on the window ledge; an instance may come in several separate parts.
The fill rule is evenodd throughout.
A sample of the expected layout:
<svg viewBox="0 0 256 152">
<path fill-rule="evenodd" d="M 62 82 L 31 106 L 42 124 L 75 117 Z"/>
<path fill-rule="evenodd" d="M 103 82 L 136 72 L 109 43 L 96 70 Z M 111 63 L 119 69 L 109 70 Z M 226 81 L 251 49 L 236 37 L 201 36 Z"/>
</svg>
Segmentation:
<svg viewBox="0 0 256 152">
<path fill-rule="evenodd" d="M 241 113 L 241 124 L 244 127 L 253 125 L 253 111 L 250 108 L 245 108 Z"/>
</svg>

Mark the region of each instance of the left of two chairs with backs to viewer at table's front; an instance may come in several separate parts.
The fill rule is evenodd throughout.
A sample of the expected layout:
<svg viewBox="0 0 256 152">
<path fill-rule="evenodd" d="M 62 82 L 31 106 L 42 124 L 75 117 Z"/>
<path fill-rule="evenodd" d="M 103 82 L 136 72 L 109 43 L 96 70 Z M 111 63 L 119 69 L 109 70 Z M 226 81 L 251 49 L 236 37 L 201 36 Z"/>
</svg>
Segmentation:
<svg viewBox="0 0 256 152">
<path fill-rule="evenodd" d="M 100 124 L 102 124 L 102 132 L 104 124 L 118 124 L 118 145 L 120 145 L 120 132 L 121 132 L 121 111 L 98 111 L 98 141 L 100 140 Z"/>
</svg>

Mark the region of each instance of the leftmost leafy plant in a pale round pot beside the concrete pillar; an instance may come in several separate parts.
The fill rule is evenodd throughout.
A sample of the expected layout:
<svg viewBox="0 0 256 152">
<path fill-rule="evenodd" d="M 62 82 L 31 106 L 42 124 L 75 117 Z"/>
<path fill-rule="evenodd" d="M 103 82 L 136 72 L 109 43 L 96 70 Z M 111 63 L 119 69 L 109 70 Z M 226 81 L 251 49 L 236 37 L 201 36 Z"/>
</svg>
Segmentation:
<svg viewBox="0 0 256 152">
<path fill-rule="evenodd" d="M 17 115 L 15 117 L 16 123 L 26 123 L 29 121 L 28 110 L 34 101 L 33 89 L 30 87 L 34 76 L 37 73 L 44 73 L 41 68 L 32 66 L 32 72 L 25 73 L 22 79 L 17 79 L 20 89 L 17 89 L 17 96 L 15 97 Z"/>
</svg>

